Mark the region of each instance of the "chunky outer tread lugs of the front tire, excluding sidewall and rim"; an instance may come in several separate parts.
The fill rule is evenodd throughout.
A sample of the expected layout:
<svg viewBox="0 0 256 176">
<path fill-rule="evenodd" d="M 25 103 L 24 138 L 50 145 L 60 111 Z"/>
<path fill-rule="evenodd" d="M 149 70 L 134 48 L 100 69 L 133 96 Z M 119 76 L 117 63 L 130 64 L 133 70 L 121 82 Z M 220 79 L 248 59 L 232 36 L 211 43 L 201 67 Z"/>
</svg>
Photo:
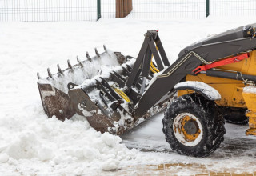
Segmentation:
<svg viewBox="0 0 256 176">
<path fill-rule="evenodd" d="M 212 115 L 213 118 L 204 118 L 206 122 L 207 130 L 209 130 L 210 136 L 207 136 L 206 142 L 203 146 L 191 147 L 190 150 L 182 150 L 177 140 L 174 140 L 174 136 L 170 135 L 170 130 L 167 126 L 170 125 L 170 121 L 174 118 L 175 112 L 180 110 L 182 106 L 200 108 L 203 113 Z M 209 108 L 213 107 L 213 108 Z M 162 119 L 163 128 L 162 131 L 166 136 L 166 142 L 170 144 L 170 147 L 178 152 L 178 154 L 186 154 L 194 157 L 206 157 L 212 154 L 223 142 L 225 130 L 225 120 L 222 117 L 222 114 L 217 110 L 215 103 L 213 101 L 206 100 L 200 94 L 185 94 L 179 98 L 176 98 L 174 102 L 166 109 L 164 118 Z"/>
</svg>

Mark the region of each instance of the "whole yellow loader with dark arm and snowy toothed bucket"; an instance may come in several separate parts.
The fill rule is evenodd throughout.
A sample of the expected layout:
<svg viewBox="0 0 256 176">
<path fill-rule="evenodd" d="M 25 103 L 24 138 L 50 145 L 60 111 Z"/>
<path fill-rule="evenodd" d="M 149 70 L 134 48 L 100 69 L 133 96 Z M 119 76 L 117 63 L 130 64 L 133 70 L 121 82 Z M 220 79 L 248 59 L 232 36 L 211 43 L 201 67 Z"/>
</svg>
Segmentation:
<svg viewBox="0 0 256 176">
<path fill-rule="evenodd" d="M 87 57 L 88 63 L 103 62 L 104 54 L 118 61 L 108 74 L 82 74 L 86 61 L 69 63 L 66 70 L 58 67 L 57 74 L 48 71 L 48 78 L 38 74 L 42 105 L 49 117 L 64 120 L 77 113 L 95 130 L 116 135 L 166 110 L 162 130 L 170 147 L 179 154 L 207 156 L 224 140 L 224 118 L 247 123 L 249 117 L 246 134 L 256 135 L 255 26 L 187 46 L 172 64 L 158 31 L 148 30 L 137 58 L 106 48 Z"/>
</svg>

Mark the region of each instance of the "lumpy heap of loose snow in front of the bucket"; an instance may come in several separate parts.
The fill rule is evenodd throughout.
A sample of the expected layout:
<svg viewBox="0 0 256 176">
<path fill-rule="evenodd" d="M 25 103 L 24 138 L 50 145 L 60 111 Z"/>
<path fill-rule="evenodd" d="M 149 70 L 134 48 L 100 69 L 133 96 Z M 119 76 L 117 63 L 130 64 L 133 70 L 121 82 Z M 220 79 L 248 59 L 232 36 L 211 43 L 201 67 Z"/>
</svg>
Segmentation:
<svg viewBox="0 0 256 176">
<path fill-rule="evenodd" d="M 2 141 L 0 162 L 12 165 L 22 159 L 35 159 L 56 166 L 81 161 L 82 167 L 116 170 L 120 162 L 135 159 L 138 153 L 120 144 L 122 139 L 118 136 L 96 132 L 87 121 L 60 122 L 50 118 L 37 122 L 37 128 L 35 124 L 25 129 L 20 126 L 17 130 L 21 133 L 10 141 Z"/>
</svg>

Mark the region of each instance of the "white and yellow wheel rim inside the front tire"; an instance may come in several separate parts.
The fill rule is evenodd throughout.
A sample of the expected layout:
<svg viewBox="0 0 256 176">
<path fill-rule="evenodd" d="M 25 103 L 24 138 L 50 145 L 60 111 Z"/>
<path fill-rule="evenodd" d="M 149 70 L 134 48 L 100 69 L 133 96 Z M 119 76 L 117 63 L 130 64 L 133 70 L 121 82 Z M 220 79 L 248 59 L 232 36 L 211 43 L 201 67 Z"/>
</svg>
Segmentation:
<svg viewBox="0 0 256 176">
<path fill-rule="evenodd" d="M 196 146 L 202 140 L 202 124 L 193 114 L 182 113 L 174 118 L 174 135 L 185 146 Z"/>
</svg>

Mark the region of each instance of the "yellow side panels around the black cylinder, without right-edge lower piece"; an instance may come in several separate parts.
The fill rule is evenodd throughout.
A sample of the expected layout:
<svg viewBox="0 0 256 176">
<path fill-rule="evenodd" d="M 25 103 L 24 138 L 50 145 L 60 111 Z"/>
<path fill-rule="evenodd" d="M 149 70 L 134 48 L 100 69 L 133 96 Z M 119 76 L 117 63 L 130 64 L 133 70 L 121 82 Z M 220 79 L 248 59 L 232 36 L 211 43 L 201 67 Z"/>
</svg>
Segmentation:
<svg viewBox="0 0 256 176">
<path fill-rule="evenodd" d="M 241 62 L 232 63 L 226 66 L 219 66 L 217 69 L 234 70 L 242 74 L 256 75 L 256 51 L 250 52 L 250 57 Z M 198 74 L 193 76 L 188 74 L 186 81 L 205 82 L 214 89 L 218 90 L 222 98 L 215 101 L 218 106 L 242 107 L 246 108 L 245 100 L 242 96 L 242 89 L 245 86 L 242 82 L 234 79 L 217 78 L 206 76 L 206 74 Z M 178 90 L 178 96 L 190 94 L 191 90 Z"/>
</svg>

